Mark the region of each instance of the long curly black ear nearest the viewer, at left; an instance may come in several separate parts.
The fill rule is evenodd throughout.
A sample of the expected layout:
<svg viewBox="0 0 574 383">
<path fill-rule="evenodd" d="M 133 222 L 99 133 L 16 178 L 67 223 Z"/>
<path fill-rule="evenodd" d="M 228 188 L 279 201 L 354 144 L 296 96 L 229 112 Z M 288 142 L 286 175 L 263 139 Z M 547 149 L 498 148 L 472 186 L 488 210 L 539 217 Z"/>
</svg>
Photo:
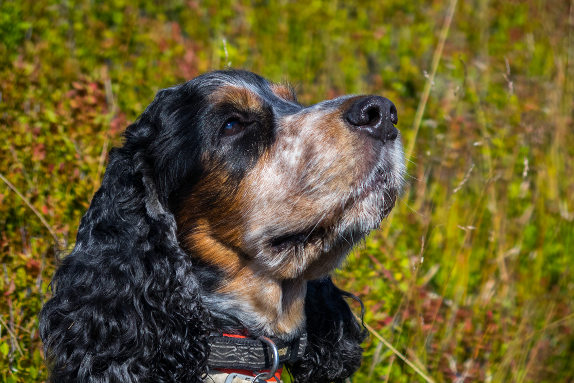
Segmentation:
<svg viewBox="0 0 574 383">
<path fill-rule="evenodd" d="M 110 151 L 52 280 L 40 334 L 53 382 L 199 383 L 207 372 L 209 314 L 146 154 L 156 130 L 144 115 Z"/>
</svg>

